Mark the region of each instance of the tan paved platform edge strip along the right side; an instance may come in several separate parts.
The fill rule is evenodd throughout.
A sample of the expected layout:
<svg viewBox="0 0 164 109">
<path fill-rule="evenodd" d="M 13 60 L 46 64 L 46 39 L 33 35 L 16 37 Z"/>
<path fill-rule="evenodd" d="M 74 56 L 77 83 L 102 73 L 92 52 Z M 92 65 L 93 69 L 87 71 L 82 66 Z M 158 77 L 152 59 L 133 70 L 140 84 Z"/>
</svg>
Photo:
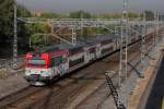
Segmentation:
<svg viewBox="0 0 164 109">
<path fill-rule="evenodd" d="M 161 108 L 145 108 L 150 97 L 151 89 L 157 75 L 159 68 L 163 59 L 163 46 L 155 60 L 151 60 L 149 68 L 145 70 L 145 77 L 138 81 L 133 94 L 130 96 L 128 109 L 161 109 Z M 163 77 L 164 78 L 164 77 Z M 154 99 L 153 99 L 154 101 Z"/>
</svg>

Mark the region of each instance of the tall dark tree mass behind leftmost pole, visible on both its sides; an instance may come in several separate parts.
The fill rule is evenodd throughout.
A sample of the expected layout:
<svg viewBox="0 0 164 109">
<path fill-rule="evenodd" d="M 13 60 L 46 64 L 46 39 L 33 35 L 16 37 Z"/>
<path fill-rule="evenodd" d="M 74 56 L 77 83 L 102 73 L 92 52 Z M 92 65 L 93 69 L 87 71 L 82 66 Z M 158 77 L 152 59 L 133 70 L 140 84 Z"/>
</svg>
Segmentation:
<svg viewBox="0 0 164 109">
<path fill-rule="evenodd" d="M 5 51 L 4 55 L 8 52 L 10 56 L 12 55 L 13 44 L 14 4 L 15 0 L 0 0 L 0 50 Z M 30 11 L 24 5 L 17 4 L 19 17 L 30 15 Z M 27 47 L 28 36 L 24 34 L 25 32 L 24 23 L 17 21 L 19 48 L 21 49 Z"/>
</svg>

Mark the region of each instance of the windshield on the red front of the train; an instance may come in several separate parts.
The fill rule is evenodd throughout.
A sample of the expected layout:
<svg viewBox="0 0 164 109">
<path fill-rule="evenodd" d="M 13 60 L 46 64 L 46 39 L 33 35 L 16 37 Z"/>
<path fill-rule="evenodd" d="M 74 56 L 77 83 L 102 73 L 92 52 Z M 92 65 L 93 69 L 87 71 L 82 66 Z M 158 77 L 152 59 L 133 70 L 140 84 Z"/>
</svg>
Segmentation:
<svg viewBox="0 0 164 109">
<path fill-rule="evenodd" d="M 45 66 L 46 65 L 46 61 L 43 59 L 31 59 L 27 62 L 28 66 Z"/>
</svg>

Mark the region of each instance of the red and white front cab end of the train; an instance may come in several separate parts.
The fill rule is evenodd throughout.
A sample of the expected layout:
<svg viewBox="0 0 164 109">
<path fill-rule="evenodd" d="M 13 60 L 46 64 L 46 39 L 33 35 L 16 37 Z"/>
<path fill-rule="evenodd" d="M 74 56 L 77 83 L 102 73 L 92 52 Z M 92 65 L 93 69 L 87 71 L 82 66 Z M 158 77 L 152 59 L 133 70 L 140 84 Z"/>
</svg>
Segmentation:
<svg viewBox="0 0 164 109">
<path fill-rule="evenodd" d="M 32 53 L 27 53 L 24 77 L 31 85 L 45 85 L 52 77 L 49 66 L 49 55 L 43 53 L 34 57 Z"/>
</svg>

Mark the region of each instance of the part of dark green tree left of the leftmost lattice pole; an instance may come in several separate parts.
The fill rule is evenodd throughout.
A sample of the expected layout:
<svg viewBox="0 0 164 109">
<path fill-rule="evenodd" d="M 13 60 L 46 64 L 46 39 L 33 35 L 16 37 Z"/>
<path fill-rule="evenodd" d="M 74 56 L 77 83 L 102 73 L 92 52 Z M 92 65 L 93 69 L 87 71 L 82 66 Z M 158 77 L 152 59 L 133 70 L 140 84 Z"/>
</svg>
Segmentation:
<svg viewBox="0 0 164 109">
<path fill-rule="evenodd" d="M 0 0 L 0 47 L 11 46 L 13 35 L 13 0 Z"/>
</svg>

